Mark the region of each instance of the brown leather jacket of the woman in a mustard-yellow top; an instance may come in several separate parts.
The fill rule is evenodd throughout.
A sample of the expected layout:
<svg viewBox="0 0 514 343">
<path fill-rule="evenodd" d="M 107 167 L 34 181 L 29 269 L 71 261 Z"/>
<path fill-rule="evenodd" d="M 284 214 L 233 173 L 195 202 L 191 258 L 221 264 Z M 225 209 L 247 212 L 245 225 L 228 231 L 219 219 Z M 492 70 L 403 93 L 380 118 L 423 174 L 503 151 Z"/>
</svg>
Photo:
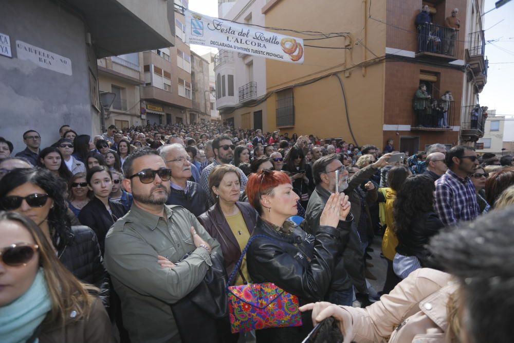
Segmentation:
<svg viewBox="0 0 514 343">
<path fill-rule="evenodd" d="M 257 220 L 257 211 L 248 203 L 236 202 L 235 205 L 243 214 L 246 228 L 251 235 Z M 221 207 L 219 207 L 219 203 L 212 205 L 207 212 L 200 214 L 198 221 L 209 232 L 211 237 L 221 245 L 225 269 L 227 270 L 227 275 L 230 275 L 237 260 L 241 257 L 241 248 L 232 230 L 230 230 L 230 226 L 225 219 L 225 215 L 223 215 Z"/>
</svg>

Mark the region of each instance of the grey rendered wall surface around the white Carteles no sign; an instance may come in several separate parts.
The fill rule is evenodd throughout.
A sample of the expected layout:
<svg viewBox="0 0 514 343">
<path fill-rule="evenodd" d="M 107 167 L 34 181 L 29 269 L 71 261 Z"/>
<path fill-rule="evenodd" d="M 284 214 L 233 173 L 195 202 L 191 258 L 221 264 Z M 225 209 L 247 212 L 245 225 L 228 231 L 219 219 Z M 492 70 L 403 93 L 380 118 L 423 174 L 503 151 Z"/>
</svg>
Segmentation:
<svg viewBox="0 0 514 343">
<path fill-rule="evenodd" d="M 97 59 L 80 18 L 48 0 L 9 1 L 0 32 L 10 36 L 12 50 L 12 58 L 0 56 L 0 136 L 13 142 L 14 153 L 25 149 L 22 134 L 29 129 L 41 134 L 42 148 L 59 138 L 65 123 L 79 134 L 98 134 L 100 119 L 89 98 Z M 18 40 L 70 59 L 72 75 L 20 60 Z"/>
</svg>

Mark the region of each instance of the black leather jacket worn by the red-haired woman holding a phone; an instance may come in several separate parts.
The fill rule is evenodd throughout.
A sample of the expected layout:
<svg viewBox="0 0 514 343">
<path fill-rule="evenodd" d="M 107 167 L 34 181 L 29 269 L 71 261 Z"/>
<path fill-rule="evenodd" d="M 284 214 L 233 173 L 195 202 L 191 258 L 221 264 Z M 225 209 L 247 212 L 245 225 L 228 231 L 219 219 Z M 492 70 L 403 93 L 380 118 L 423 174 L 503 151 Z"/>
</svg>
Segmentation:
<svg viewBox="0 0 514 343">
<path fill-rule="evenodd" d="M 313 236 L 297 226 L 286 235 L 259 217 L 252 236 L 256 234 L 270 239 L 256 238 L 248 248 L 246 263 L 252 281 L 273 282 L 298 296 L 300 305 L 321 301 L 330 287 L 341 249 L 337 239 L 340 229 L 320 226 Z M 257 342 L 301 342 L 313 328 L 309 312 L 302 315 L 302 321 L 301 327 L 258 330 Z"/>
</svg>

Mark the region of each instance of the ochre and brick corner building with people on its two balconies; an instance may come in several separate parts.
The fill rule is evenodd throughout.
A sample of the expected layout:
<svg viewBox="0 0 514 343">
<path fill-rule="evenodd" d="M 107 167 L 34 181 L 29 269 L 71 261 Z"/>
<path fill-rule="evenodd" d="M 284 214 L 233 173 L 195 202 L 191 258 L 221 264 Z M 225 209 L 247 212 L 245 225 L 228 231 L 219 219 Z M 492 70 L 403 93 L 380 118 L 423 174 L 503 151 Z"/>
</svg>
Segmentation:
<svg viewBox="0 0 514 343">
<path fill-rule="evenodd" d="M 470 43 L 470 37 L 477 36 L 471 34 L 476 27 L 470 22 L 480 22 L 482 3 L 364 0 L 313 6 L 306 0 L 268 1 L 261 9 L 265 26 L 299 31 L 291 35 L 315 47 L 305 47 L 303 65 L 266 61 L 266 90 L 271 95 L 265 129 L 278 127 L 289 136 L 343 137 L 379 147 L 393 139 L 396 149 L 409 153 L 435 142 L 453 146 L 478 140 L 483 132 L 466 115 L 471 116 L 486 81 L 480 84 L 477 78 L 479 70 L 482 76 L 486 69 L 471 65 L 474 59 L 485 61 L 482 49 L 475 49 L 482 46 L 483 35 Z M 432 24 L 416 26 L 424 5 Z M 454 8 L 460 20 L 455 31 L 445 25 Z M 298 20 L 304 17 L 309 20 Z M 430 99 L 415 106 L 421 84 Z M 447 91 L 453 100 L 443 102 Z M 441 105 L 445 111 L 437 107 Z M 446 112 L 443 122 L 441 112 Z"/>
</svg>

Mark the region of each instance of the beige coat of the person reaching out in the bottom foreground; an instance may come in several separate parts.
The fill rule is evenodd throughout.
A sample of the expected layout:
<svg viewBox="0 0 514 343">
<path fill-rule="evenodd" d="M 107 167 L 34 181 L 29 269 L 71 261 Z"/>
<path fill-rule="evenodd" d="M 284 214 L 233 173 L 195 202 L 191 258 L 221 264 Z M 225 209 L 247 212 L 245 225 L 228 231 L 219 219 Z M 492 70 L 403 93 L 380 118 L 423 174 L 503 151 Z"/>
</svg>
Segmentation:
<svg viewBox="0 0 514 343">
<path fill-rule="evenodd" d="M 421 268 L 365 309 L 341 307 L 353 318 L 352 341 L 443 343 L 448 297 L 456 289 L 450 274 Z"/>
</svg>

